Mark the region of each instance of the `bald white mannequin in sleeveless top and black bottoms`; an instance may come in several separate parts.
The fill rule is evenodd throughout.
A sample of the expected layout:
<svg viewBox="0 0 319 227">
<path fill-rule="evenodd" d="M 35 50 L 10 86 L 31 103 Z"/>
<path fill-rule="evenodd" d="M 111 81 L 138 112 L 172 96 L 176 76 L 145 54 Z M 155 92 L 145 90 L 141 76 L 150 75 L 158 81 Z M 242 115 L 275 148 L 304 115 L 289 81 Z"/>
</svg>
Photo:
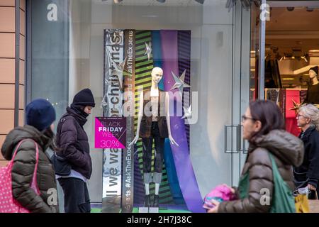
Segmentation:
<svg viewBox="0 0 319 227">
<path fill-rule="evenodd" d="M 169 121 L 169 94 L 159 89 L 158 83 L 163 77 L 163 70 L 155 67 L 151 73 L 152 87 L 140 93 L 140 106 L 138 111 L 138 128 L 134 140 L 130 145 L 135 144 L 138 138 L 142 138 L 143 149 L 143 172 L 145 184 L 144 206 L 156 207 L 159 205 L 159 184 L 162 181 L 162 164 L 164 154 L 164 140 L 169 138 L 172 145 L 177 145 L 172 137 Z M 155 140 L 155 182 L 154 201 L 150 204 L 150 182 L 152 143 Z"/>
</svg>

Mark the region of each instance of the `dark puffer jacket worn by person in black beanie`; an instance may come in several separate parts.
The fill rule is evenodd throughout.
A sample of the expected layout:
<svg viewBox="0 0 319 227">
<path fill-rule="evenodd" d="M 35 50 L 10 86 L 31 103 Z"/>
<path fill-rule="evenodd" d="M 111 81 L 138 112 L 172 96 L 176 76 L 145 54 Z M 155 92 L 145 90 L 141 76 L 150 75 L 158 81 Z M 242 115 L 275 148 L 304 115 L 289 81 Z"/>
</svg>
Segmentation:
<svg viewBox="0 0 319 227">
<path fill-rule="evenodd" d="M 60 155 L 67 158 L 72 170 L 90 179 L 92 162 L 89 140 L 84 131 L 86 118 L 79 112 L 67 107 L 67 113 L 62 116 L 57 125 L 57 147 Z"/>
</svg>

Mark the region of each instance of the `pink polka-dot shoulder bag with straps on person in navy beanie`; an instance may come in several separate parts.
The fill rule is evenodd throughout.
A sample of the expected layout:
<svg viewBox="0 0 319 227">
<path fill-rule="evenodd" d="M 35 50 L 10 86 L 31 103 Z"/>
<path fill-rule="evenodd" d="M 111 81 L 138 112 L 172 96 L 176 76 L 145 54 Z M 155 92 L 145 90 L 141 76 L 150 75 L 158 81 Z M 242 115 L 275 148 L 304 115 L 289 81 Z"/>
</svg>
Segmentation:
<svg viewBox="0 0 319 227">
<path fill-rule="evenodd" d="M 27 139 L 26 139 L 27 140 Z M 13 167 L 13 160 L 16 157 L 16 152 L 18 148 L 20 148 L 23 141 L 16 146 L 16 150 L 13 153 L 13 157 L 6 167 L 2 167 L 0 169 L 0 213 L 30 213 L 28 209 L 25 209 L 21 206 L 18 201 L 13 198 L 12 194 L 12 182 L 11 182 L 11 171 Z M 39 149 L 38 144 L 35 143 L 35 168 L 33 172 L 33 178 L 30 187 L 34 190 L 34 192 L 40 195 L 40 190 L 37 184 L 37 170 L 38 170 L 38 162 L 39 162 Z"/>
</svg>

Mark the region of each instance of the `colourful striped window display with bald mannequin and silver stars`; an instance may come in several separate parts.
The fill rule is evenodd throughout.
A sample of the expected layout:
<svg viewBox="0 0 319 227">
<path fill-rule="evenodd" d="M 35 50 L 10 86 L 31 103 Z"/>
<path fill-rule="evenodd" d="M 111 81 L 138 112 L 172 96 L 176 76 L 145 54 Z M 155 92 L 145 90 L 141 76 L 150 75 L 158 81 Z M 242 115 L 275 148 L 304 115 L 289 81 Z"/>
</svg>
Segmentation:
<svg viewBox="0 0 319 227">
<path fill-rule="evenodd" d="M 111 157 L 111 150 L 104 150 L 104 169 L 122 163 L 121 174 L 125 179 L 133 179 L 133 162 L 128 164 L 121 160 L 132 160 L 132 153 L 136 152 L 142 176 L 142 182 L 136 179 L 134 182 L 123 180 L 123 194 L 121 195 L 118 185 L 118 192 L 113 194 L 113 199 L 122 196 L 122 211 L 132 211 L 133 188 L 144 184 L 144 201 L 134 201 L 136 206 L 158 207 L 159 204 L 174 204 L 169 178 L 175 175 L 173 173 L 170 176 L 171 174 L 163 168 L 164 149 L 168 149 L 168 153 L 172 153 L 171 163 L 177 171 L 179 187 L 188 209 L 201 211 L 201 194 L 189 158 L 189 141 L 186 135 L 187 131 L 189 134 L 189 128 L 185 127 L 187 118 L 184 114 L 189 114 L 183 114 L 182 108 L 189 109 L 190 106 L 189 92 L 184 94 L 190 87 L 187 84 L 190 82 L 190 65 L 187 63 L 190 62 L 191 47 L 184 45 L 190 43 L 190 31 L 106 30 L 104 37 L 104 116 L 127 116 L 128 121 L 134 116 L 134 124 L 131 121 L 127 127 L 136 128 L 135 137 L 130 140 L 132 136 L 128 136 L 125 149 L 130 152 L 124 149 L 122 157 L 118 155 L 108 158 Z M 135 44 L 135 52 L 132 44 Z M 180 72 L 181 76 L 177 77 Z M 128 88 L 135 88 L 134 96 Z M 187 96 L 186 100 L 184 96 Z M 124 103 L 121 102 L 121 97 L 125 100 Z M 131 103 L 132 100 L 135 100 L 134 104 Z M 138 142 L 138 138 L 142 138 L 142 141 Z M 171 143 L 170 147 L 164 145 L 165 138 Z M 135 143 L 136 150 L 133 150 Z M 118 150 L 118 153 L 121 151 Z M 129 178 L 125 177 L 128 172 Z M 112 182 L 116 180 L 119 179 L 114 176 L 104 177 L 103 185 L 106 188 L 103 188 L 103 192 L 115 192 L 112 189 L 115 184 Z M 152 182 L 155 183 L 155 187 Z M 106 205 L 112 201 L 110 194 L 103 194 L 103 197 Z"/>
</svg>

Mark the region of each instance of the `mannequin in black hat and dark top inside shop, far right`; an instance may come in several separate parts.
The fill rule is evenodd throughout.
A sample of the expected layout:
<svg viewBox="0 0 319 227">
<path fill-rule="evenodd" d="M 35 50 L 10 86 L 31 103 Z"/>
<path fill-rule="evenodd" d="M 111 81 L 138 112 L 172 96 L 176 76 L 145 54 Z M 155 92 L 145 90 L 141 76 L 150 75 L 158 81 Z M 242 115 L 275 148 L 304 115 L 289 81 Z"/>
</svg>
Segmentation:
<svg viewBox="0 0 319 227">
<path fill-rule="evenodd" d="M 315 104 L 319 106 L 319 81 L 318 81 L 318 66 L 312 67 L 309 70 L 309 78 L 311 85 L 308 86 L 308 92 L 305 103 Z"/>
</svg>

